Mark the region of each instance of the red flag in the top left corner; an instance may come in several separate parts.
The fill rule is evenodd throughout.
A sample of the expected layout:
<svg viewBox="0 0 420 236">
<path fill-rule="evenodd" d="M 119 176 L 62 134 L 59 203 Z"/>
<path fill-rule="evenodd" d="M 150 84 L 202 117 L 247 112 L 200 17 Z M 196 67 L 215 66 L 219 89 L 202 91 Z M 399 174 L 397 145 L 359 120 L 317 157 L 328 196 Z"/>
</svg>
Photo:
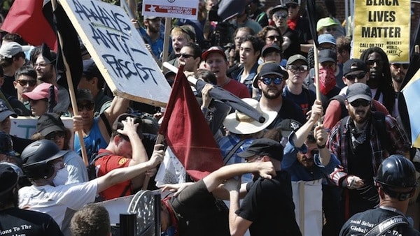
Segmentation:
<svg viewBox="0 0 420 236">
<path fill-rule="evenodd" d="M 15 0 L 1 29 L 20 34 L 31 45 L 45 42 L 57 52 L 57 36 L 43 15 L 43 0 Z"/>
</svg>

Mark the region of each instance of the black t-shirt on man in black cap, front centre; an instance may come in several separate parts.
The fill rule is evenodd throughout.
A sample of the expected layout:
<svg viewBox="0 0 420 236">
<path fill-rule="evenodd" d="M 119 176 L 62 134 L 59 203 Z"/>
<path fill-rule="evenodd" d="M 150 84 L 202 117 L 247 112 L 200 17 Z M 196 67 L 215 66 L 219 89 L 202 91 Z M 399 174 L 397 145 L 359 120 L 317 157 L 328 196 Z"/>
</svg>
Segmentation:
<svg viewBox="0 0 420 236">
<path fill-rule="evenodd" d="M 276 172 L 272 179 L 259 178 L 246 186 L 248 193 L 238 216 L 252 221 L 251 235 L 302 235 L 295 220 L 295 205 L 288 172 Z"/>
</svg>

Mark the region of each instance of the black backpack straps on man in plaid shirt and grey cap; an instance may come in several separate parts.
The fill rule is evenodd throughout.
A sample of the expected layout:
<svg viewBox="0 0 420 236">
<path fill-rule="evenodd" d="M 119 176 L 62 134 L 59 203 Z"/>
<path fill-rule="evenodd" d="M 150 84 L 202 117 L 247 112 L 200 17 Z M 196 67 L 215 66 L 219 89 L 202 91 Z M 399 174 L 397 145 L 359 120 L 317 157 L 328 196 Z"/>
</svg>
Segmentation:
<svg viewBox="0 0 420 236">
<path fill-rule="evenodd" d="M 388 131 L 386 131 L 386 115 L 382 112 L 372 112 L 372 116 L 374 118 L 374 122 L 372 123 L 372 125 L 374 125 L 374 128 L 377 131 L 379 142 L 381 142 L 381 147 L 386 149 L 388 154 L 395 154 L 395 149 L 393 148 L 393 145 L 391 145 L 391 140 L 389 139 L 389 133 Z M 341 135 L 343 135 L 344 126 L 346 125 L 348 120 L 349 116 L 346 116 L 340 121 L 339 133 Z"/>
</svg>

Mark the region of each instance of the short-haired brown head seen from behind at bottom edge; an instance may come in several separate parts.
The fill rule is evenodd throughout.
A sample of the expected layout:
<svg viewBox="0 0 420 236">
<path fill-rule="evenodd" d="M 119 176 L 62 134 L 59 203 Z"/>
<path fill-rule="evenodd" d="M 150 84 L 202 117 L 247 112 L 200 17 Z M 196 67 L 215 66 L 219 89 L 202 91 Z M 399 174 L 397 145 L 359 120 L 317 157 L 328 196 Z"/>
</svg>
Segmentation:
<svg viewBox="0 0 420 236">
<path fill-rule="evenodd" d="M 109 213 L 103 205 L 87 204 L 73 215 L 70 229 L 73 236 L 110 236 Z"/>
</svg>

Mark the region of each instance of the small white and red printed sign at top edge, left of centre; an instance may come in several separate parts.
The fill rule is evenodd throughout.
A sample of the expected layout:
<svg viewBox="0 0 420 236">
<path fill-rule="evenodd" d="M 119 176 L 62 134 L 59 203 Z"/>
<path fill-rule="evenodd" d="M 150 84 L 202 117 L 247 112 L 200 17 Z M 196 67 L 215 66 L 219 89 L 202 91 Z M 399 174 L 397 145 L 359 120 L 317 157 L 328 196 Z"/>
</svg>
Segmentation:
<svg viewBox="0 0 420 236">
<path fill-rule="evenodd" d="M 199 0 L 144 0 L 142 15 L 197 20 Z"/>
</svg>

